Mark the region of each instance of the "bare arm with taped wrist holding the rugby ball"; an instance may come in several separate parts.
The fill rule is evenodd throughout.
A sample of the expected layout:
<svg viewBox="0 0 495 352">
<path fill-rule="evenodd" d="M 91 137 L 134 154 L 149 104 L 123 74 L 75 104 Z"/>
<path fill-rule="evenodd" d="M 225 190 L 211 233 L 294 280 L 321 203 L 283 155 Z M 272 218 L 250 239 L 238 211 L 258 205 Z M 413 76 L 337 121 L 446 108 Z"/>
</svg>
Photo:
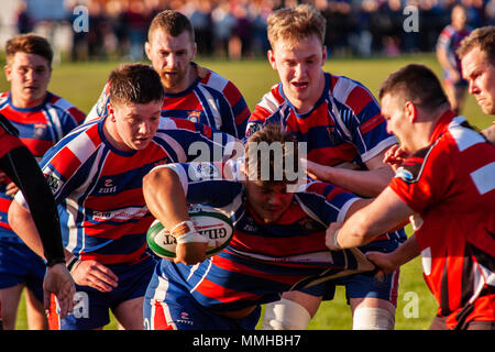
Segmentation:
<svg viewBox="0 0 495 352">
<path fill-rule="evenodd" d="M 158 219 L 176 238 L 191 235 L 200 240 L 200 234 L 194 229 L 187 229 L 189 220 L 187 201 L 178 175 L 168 167 L 156 168 L 143 178 L 143 194 L 151 213 Z M 184 224 L 184 226 L 180 226 Z M 194 231 L 196 233 L 190 233 Z M 189 234 L 190 233 L 190 234 Z M 187 265 L 197 264 L 206 260 L 206 241 L 177 242 L 175 263 Z"/>
</svg>

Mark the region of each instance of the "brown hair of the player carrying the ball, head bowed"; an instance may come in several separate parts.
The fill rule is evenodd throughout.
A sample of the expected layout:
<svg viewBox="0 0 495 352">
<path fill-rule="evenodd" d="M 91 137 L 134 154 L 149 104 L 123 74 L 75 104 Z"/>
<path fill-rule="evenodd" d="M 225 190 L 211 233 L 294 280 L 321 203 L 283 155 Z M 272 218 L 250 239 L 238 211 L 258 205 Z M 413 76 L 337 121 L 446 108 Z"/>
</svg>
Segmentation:
<svg viewBox="0 0 495 352">
<path fill-rule="evenodd" d="M 282 125 L 268 123 L 245 143 L 244 165 L 248 178 L 261 186 L 296 183 L 288 173 L 301 172 L 297 140 Z"/>
</svg>

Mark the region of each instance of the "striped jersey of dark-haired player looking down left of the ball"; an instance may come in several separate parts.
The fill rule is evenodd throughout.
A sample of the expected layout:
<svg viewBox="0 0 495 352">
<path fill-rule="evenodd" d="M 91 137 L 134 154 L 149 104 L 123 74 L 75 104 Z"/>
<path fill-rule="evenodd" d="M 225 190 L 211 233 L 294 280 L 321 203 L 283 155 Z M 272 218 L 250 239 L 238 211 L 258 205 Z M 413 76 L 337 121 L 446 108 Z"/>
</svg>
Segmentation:
<svg viewBox="0 0 495 352">
<path fill-rule="evenodd" d="M 106 139 L 103 122 L 74 130 L 41 166 L 58 204 L 65 249 L 102 264 L 133 263 L 147 256 L 146 231 L 154 219 L 144 201 L 143 177 L 156 165 L 195 161 L 189 153 L 195 142 L 211 151 L 233 138 L 187 120 L 161 119 L 146 148 L 123 152 Z"/>
</svg>

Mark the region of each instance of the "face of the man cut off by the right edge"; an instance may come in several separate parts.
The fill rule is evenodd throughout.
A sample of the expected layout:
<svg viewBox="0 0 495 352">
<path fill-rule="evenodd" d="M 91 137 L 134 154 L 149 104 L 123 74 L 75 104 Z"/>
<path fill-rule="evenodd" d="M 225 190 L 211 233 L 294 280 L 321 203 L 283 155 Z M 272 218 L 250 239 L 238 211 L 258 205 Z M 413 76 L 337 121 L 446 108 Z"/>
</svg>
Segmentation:
<svg viewBox="0 0 495 352">
<path fill-rule="evenodd" d="M 479 47 L 462 61 L 462 75 L 468 79 L 469 91 L 474 96 L 484 113 L 495 114 L 495 67 Z"/>
</svg>

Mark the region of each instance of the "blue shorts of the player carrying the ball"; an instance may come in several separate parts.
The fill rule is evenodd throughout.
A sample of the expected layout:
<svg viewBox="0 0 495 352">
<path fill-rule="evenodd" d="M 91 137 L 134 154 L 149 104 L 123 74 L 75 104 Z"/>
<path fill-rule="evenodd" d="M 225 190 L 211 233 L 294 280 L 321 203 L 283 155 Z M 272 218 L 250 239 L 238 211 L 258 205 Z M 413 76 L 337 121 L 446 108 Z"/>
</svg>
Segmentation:
<svg viewBox="0 0 495 352">
<path fill-rule="evenodd" d="M 161 275 L 156 265 L 143 305 L 146 330 L 254 330 L 261 307 L 242 319 L 211 312 L 198 304 L 189 290 Z"/>
</svg>

